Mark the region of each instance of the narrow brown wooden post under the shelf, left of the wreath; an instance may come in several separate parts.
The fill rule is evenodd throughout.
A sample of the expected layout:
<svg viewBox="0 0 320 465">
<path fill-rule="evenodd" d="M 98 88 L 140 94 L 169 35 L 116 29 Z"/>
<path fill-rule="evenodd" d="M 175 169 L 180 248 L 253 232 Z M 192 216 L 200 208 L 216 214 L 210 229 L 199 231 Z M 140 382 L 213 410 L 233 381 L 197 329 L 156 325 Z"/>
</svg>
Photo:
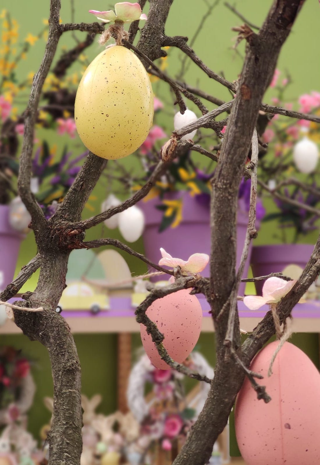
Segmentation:
<svg viewBox="0 0 320 465">
<path fill-rule="evenodd" d="M 126 413 L 127 406 L 127 384 L 131 371 L 131 334 L 120 332 L 118 334 L 118 371 L 117 371 L 117 398 L 118 410 Z"/>
</svg>

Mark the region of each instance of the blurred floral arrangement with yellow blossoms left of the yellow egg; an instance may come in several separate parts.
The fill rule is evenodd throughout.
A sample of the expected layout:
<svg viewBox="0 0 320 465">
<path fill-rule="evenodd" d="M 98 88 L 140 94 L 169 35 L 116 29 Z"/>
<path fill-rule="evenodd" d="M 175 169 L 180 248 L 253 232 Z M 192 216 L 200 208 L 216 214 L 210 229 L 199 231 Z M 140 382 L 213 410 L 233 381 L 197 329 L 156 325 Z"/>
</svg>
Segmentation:
<svg viewBox="0 0 320 465">
<path fill-rule="evenodd" d="M 0 48 L 0 205 L 10 204 L 10 224 L 21 232 L 27 232 L 30 217 L 16 192 L 16 178 L 19 173 L 19 153 L 24 133 L 24 115 L 19 113 L 21 99 L 30 89 L 34 73 L 24 80 L 18 80 L 19 63 L 27 59 L 38 40 L 47 40 L 48 22 L 37 35 L 29 33 L 24 40 L 19 36 L 19 25 L 10 13 L 2 10 L 2 47 Z M 86 46 L 93 42 L 88 39 Z M 76 47 L 77 48 L 77 47 Z M 51 129 L 58 136 L 67 134 L 70 139 L 76 135 L 74 123 L 74 99 L 81 73 L 87 61 L 85 47 L 75 52 L 63 50 L 60 60 L 48 74 L 41 96 L 41 106 L 37 115 L 37 129 Z M 69 59 L 72 55 L 72 59 Z M 67 68 L 74 60 L 80 62 L 80 69 L 72 75 Z M 63 78 L 63 79 L 62 79 Z M 42 138 L 41 138 L 42 139 Z M 41 205 L 45 216 L 50 218 L 59 206 L 73 179 L 80 170 L 78 163 L 87 155 L 74 155 L 65 147 L 57 154 L 57 146 L 49 146 L 46 140 L 38 140 L 34 134 L 35 153 L 33 157 L 32 190 Z"/>
</svg>

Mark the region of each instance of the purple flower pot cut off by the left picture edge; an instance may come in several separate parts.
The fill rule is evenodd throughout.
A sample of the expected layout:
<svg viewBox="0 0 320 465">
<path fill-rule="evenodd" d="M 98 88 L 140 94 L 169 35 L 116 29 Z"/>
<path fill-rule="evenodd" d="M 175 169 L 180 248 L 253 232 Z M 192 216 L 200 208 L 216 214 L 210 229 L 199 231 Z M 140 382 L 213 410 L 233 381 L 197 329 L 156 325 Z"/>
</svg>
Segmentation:
<svg viewBox="0 0 320 465">
<path fill-rule="evenodd" d="M 9 207 L 0 205 L 0 290 L 12 282 L 23 234 L 15 231 L 8 221 Z"/>
</svg>

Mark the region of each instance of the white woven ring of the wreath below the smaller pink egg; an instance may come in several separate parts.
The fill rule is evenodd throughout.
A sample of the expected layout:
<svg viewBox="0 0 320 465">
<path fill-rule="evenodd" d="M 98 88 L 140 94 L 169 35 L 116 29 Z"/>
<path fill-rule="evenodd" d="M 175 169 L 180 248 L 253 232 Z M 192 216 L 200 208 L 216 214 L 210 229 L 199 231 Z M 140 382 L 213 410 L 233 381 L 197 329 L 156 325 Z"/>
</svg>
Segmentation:
<svg viewBox="0 0 320 465">
<path fill-rule="evenodd" d="M 192 352 L 190 361 L 193 365 L 193 370 L 198 372 L 201 376 L 207 376 L 213 379 L 214 371 L 207 360 L 199 353 Z M 141 423 L 148 415 L 150 405 L 148 405 L 145 398 L 145 386 L 147 380 L 150 378 L 150 373 L 155 370 L 147 355 L 144 354 L 140 360 L 133 366 L 128 380 L 127 388 L 127 403 L 128 407 L 133 413 L 134 418 Z M 161 372 L 162 370 L 158 370 Z M 164 370 L 165 372 L 165 370 Z M 179 376 L 180 373 L 176 374 Z M 183 377 L 183 375 L 181 375 Z M 193 409 L 195 410 L 195 419 L 198 418 L 207 399 L 210 385 L 203 381 L 200 382 L 200 391 L 193 399 Z"/>
</svg>

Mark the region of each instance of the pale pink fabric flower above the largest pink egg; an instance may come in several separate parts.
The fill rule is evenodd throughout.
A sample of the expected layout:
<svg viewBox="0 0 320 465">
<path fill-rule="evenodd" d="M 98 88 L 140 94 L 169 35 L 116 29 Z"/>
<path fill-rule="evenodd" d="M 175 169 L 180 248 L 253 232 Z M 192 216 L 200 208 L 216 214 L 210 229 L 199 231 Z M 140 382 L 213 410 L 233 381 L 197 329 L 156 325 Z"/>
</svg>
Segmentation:
<svg viewBox="0 0 320 465">
<path fill-rule="evenodd" d="M 247 295 L 243 298 L 243 303 L 250 310 L 258 310 L 265 304 L 276 304 L 295 285 L 297 281 L 285 281 L 281 278 L 268 278 L 262 287 L 262 297 L 260 295 Z"/>
</svg>

